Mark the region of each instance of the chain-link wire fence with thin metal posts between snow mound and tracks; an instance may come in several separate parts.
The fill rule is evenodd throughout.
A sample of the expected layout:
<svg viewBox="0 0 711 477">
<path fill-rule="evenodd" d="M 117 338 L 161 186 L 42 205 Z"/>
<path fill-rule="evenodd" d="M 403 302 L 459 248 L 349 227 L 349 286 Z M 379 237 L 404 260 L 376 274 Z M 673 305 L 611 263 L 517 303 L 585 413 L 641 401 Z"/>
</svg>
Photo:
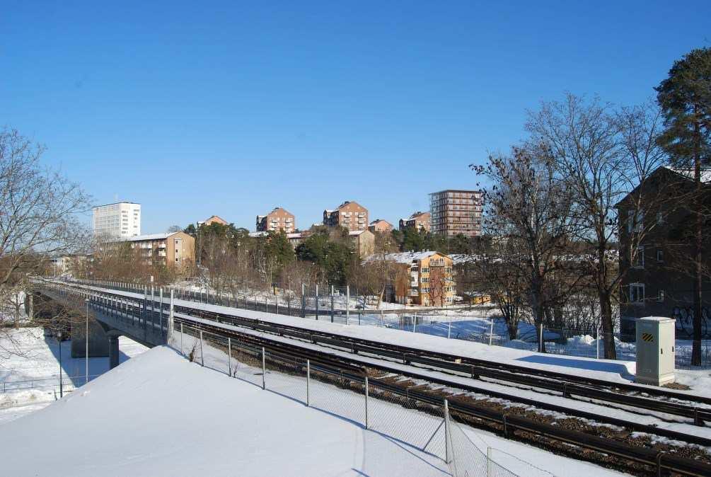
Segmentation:
<svg viewBox="0 0 711 477">
<path fill-rule="evenodd" d="M 516 476 L 471 441 L 444 398 L 424 401 L 387 377 L 353 375 L 183 322 L 168 343 L 193 363 L 436 456 L 455 477 Z"/>
</svg>

